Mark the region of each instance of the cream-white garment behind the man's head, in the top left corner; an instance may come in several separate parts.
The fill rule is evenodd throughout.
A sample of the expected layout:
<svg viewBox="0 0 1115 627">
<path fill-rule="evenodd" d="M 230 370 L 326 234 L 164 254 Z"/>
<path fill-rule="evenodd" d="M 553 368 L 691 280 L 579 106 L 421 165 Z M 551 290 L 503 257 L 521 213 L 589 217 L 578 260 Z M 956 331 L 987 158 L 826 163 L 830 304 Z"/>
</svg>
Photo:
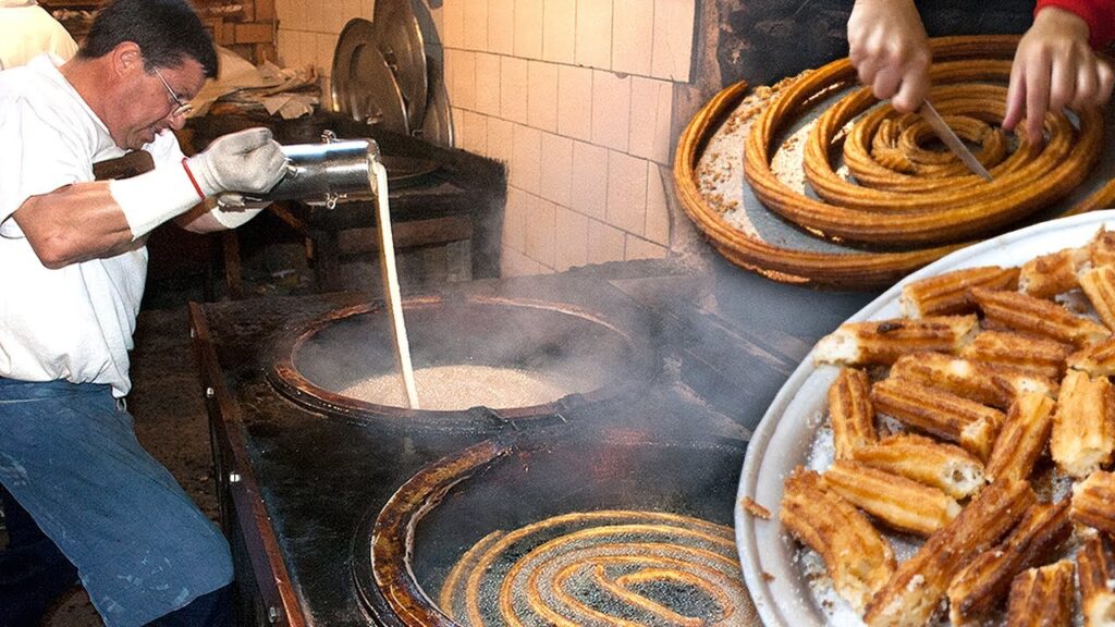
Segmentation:
<svg viewBox="0 0 1115 627">
<path fill-rule="evenodd" d="M 77 42 L 35 0 L 0 0 L 0 69 L 21 66 L 41 52 L 67 61 Z"/>
</svg>

